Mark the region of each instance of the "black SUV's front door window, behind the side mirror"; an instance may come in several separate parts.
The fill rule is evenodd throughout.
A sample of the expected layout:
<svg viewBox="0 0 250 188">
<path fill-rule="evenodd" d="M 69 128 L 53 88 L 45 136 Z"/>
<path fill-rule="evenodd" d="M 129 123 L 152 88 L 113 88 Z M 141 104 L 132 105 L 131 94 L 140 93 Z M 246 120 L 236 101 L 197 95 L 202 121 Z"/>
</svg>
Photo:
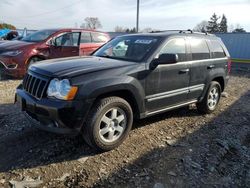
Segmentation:
<svg viewBox="0 0 250 188">
<path fill-rule="evenodd" d="M 178 62 L 186 61 L 186 42 L 184 38 L 170 39 L 160 50 L 161 54 L 177 54 Z"/>
</svg>

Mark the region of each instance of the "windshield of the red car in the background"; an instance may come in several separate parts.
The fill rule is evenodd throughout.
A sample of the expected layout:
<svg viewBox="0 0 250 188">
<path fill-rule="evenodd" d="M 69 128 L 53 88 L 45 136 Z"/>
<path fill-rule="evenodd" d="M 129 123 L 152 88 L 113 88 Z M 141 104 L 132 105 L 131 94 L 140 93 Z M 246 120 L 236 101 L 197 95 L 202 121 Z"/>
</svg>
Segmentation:
<svg viewBox="0 0 250 188">
<path fill-rule="evenodd" d="M 36 31 L 22 39 L 25 42 L 40 42 L 47 39 L 51 34 L 55 33 L 57 30 L 40 30 Z"/>
</svg>

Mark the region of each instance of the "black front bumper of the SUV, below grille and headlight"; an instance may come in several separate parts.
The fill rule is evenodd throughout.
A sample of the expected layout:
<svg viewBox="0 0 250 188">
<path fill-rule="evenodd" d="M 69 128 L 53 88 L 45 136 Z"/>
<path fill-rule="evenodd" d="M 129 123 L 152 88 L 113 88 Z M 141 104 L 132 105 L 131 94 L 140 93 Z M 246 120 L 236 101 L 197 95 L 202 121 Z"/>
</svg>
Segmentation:
<svg viewBox="0 0 250 188">
<path fill-rule="evenodd" d="M 32 125 L 59 134 L 78 134 L 92 104 L 48 98 L 38 100 L 19 88 L 16 102 Z"/>
</svg>

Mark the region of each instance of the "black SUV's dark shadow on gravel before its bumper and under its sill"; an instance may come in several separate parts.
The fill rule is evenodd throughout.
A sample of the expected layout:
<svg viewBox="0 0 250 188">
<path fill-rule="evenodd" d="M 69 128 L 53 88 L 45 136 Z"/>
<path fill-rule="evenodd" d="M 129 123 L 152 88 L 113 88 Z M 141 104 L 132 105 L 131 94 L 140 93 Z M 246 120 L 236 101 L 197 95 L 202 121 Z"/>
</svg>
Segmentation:
<svg viewBox="0 0 250 188">
<path fill-rule="evenodd" d="M 1 113 L 8 112 L 8 113 Z M 134 128 L 170 117 L 197 116 L 196 110 L 181 108 L 135 122 Z M 70 137 L 38 130 L 14 104 L 0 105 L 0 172 L 33 168 L 98 154 L 81 136 Z"/>
</svg>

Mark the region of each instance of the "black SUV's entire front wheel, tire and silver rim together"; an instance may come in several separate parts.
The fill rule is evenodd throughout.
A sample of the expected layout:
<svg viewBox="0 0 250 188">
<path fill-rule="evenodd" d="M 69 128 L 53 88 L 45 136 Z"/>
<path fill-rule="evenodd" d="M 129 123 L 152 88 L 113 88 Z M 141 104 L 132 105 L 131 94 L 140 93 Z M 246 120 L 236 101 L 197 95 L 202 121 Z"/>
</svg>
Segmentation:
<svg viewBox="0 0 250 188">
<path fill-rule="evenodd" d="M 109 151 L 128 136 L 133 124 L 133 112 L 120 97 L 103 98 L 91 109 L 83 127 L 85 141 L 93 148 Z"/>
</svg>

